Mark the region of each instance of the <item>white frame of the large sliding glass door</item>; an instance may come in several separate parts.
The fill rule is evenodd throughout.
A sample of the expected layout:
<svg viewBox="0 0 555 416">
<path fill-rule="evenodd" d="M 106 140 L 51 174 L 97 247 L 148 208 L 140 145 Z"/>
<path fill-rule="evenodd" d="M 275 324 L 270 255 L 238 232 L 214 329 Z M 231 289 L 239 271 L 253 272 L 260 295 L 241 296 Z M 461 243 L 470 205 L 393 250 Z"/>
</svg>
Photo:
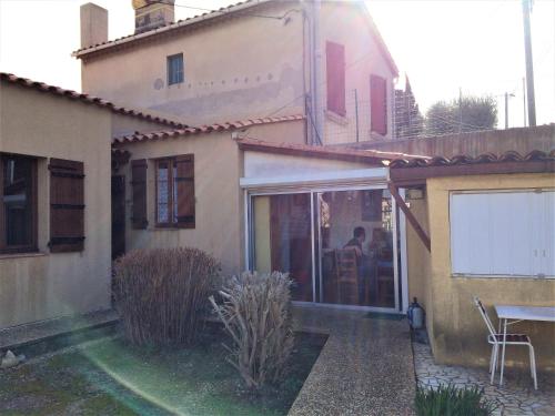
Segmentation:
<svg viewBox="0 0 555 416">
<path fill-rule="evenodd" d="M 311 200 L 311 244 L 312 244 L 312 302 L 294 301 L 295 305 L 310 305 L 310 306 L 321 306 L 321 307 L 332 307 L 340 310 L 354 310 L 354 311 L 374 311 L 384 313 L 404 313 L 408 306 L 408 280 L 406 274 L 406 226 L 404 214 L 397 210 L 397 204 L 395 199 L 391 199 L 392 203 L 392 231 L 393 231 L 393 271 L 394 271 L 394 307 L 380 307 L 380 306 L 361 306 L 361 305 L 343 305 L 343 304 L 331 304 L 321 302 L 323 298 L 323 285 L 322 285 L 322 239 L 320 230 L 320 204 L 315 206 L 315 196 L 324 192 L 341 192 L 341 191 L 367 191 L 367 190 L 387 190 L 387 185 L 384 183 L 379 184 L 367 184 L 367 185 L 352 185 L 352 186 L 300 186 L 295 189 L 287 189 L 287 186 L 279 189 L 261 189 L 261 190 L 244 190 L 244 203 L 245 203 L 245 265 L 246 270 L 252 271 L 255 258 L 255 246 L 254 246 L 254 205 L 253 200 L 255 196 L 270 196 L 270 195 L 286 195 L 286 194 L 310 194 Z M 401 196 L 404 197 L 403 190 L 400 190 Z M 398 213 L 398 215 L 397 215 Z M 315 230 L 317 225 L 317 230 Z M 317 241 L 316 241 L 317 239 Z M 398 240 L 401 239 L 401 240 Z M 319 250 L 316 253 L 316 242 Z M 400 244 L 401 243 L 401 244 Z M 401 251 L 400 251 L 401 248 Z M 316 254 L 319 254 L 316 264 Z M 316 270 L 317 266 L 317 270 Z M 316 296 L 316 278 L 319 280 L 319 293 Z M 400 284 L 402 291 L 400 291 Z"/>
</svg>

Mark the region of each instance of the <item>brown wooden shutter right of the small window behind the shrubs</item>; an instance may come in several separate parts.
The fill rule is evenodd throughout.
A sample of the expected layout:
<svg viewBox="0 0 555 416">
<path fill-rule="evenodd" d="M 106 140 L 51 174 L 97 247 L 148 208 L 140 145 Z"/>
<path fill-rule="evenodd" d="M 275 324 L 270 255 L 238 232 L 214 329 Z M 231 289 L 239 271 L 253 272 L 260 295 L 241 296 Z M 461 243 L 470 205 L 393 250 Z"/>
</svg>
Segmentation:
<svg viewBox="0 0 555 416">
<path fill-rule="evenodd" d="M 175 225 L 181 229 L 194 229 L 194 156 L 192 154 L 175 158 L 174 183 Z"/>
</svg>

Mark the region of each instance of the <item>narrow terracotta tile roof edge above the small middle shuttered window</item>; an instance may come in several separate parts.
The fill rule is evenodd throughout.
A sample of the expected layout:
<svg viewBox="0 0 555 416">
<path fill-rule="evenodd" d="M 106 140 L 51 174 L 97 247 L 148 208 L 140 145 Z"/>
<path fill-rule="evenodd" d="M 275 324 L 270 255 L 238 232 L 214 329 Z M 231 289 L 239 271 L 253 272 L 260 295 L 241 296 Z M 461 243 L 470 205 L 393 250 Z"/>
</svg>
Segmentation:
<svg viewBox="0 0 555 416">
<path fill-rule="evenodd" d="M 280 123 L 285 121 L 296 121 L 304 120 L 304 115 L 283 115 L 283 116 L 270 116 L 264 119 L 249 119 L 249 120 L 240 120 L 233 122 L 224 122 L 224 123 L 215 123 L 210 125 L 202 125 L 198 128 L 183 128 L 183 129 L 173 129 L 173 130 L 162 130 L 158 132 L 150 133 L 141 133 L 137 132 L 134 134 L 122 135 L 113 138 L 113 144 L 118 143 L 135 143 L 135 142 L 144 142 L 144 141 L 154 141 L 154 140 L 163 140 L 170 138 L 180 138 L 192 134 L 201 134 L 201 133 L 211 133 L 211 132 L 220 132 L 220 131 L 231 131 L 249 128 L 252 125 L 259 124 L 271 124 L 271 123 Z"/>
</svg>

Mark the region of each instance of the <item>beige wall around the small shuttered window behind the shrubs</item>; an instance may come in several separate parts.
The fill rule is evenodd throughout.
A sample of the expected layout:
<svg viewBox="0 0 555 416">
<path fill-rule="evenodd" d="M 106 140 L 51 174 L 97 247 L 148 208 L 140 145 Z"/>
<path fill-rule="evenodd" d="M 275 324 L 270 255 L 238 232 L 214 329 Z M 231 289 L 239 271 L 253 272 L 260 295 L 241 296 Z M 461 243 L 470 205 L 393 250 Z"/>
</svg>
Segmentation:
<svg viewBox="0 0 555 416">
<path fill-rule="evenodd" d="M 131 225 L 131 163 L 122 168 L 127 175 L 127 250 L 142 247 L 194 246 L 212 254 L 224 274 L 243 267 L 243 193 L 239 186 L 242 156 L 230 132 L 182 136 L 120 146 L 131 152 L 131 161 L 148 160 L 147 209 L 149 225 Z M 194 154 L 195 227 L 159 229 L 155 226 L 155 159 Z"/>
</svg>

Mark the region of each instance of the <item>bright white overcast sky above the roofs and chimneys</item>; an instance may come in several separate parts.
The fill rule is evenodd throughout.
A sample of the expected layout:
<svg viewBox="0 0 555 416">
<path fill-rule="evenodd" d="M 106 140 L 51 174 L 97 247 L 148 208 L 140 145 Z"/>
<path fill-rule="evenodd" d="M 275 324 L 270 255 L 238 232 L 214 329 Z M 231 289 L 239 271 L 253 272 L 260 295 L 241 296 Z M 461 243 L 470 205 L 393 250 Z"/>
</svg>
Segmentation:
<svg viewBox="0 0 555 416">
<path fill-rule="evenodd" d="M 109 38 L 133 32 L 131 0 L 90 0 L 109 10 Z M 0 71 L 80 91 L 79 8 L 88 0 L 0 0 Z M 176 0 L 219 9 L 235 1 Z M 524 125 L 524 35 L 519 0 L 369 0 L 366 6 L 423 111 L 463 94 L 497 100 L 504 126 Z M 202 13 L 175 8 L 175 18 Z M 555 122 L 555 0 L 531 17 L 537 124 Z"/>
</svg>

